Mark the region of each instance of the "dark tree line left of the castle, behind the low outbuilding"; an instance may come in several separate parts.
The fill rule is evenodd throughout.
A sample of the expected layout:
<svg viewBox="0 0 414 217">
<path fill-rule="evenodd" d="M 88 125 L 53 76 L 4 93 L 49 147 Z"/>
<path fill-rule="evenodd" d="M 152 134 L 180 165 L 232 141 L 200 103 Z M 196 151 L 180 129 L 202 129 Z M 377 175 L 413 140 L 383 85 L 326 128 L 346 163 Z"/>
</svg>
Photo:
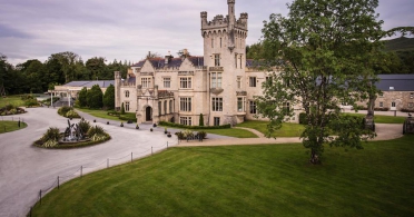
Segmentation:
<svg viewBox="0 0 414 217">
<path fill-rule="evenodd" d="M 116 59 L 107 63 L 103 57 L 83 62 L 79 55 L 70 51 L 53 53 L 45 62 L 31 59 L 13 66 L 0 53 L 0 89 L 7 95 L 19 95 L 45 92 L 75 80 L 114 80 L 114 71 L 126 77 L 130 66 L 126 60 Z"/>
</svg>

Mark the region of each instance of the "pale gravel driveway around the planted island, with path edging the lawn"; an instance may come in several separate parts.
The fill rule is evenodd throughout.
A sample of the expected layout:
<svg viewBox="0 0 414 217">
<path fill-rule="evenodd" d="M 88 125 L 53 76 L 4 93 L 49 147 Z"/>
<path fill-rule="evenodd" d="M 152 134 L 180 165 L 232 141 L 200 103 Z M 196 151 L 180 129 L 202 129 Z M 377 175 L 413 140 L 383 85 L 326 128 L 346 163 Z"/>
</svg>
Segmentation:
<svg viewBox="0 0 414 217">
<path fill-rule="evenodd" d="M 65 129 L 67 119 L 57 115 L 53 108 L 32 108 L 28 114 L 14 117 L 23 118 L 28 127 L 18 131 L 0 135 L 0 217 L 24 216 L 39 195 L 40 189 L 47 189 L 55 184 L 57 177 L 66 181 L 93 170 L 103 169 L 109 158 L 110 166 L 122 164 L 134 158 L 140 158 L 154 151 L 160 151 L 168 146 L 219 146 L 219 145 L 256 145 L 256 144 L 286 144 L 300 142 L 299 138 L 265 138 L 256 130 L 259 138 L 239 139 L 217 135 L 208 135 L 208 139 L 199 141 L 181 141 L 176 137 L 167 138 L 164 128 L 157 127 L 149 131 L 151 125 L 140 125 L 136 130 L 135 125 L 120 121 L 95 118 L 81 114 L 92 125 L 99 125 L 107 130 L 112 139 L 97 146 L 80 149 L 60 150 L 41 149 L 31 144 L 40 138 L 49 127 Z M 97 120 L 96 124 L 92 120 Z M 73 120 L 76 122 L 78 120 Z M 402 125 L 376 125 L 378 139 L 394 139 L 401 137 Z M 175 132 L 176 129 L 168 129 Z M 119 160 L 116 160 L 119 159 Z"/>
</svg>

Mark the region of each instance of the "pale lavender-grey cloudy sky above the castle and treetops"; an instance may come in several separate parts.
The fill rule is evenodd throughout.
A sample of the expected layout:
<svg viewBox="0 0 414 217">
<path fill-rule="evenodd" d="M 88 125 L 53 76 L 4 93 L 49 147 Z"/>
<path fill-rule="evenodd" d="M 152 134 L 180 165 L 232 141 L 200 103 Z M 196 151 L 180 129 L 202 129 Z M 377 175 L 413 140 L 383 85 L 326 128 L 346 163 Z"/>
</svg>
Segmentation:
<svg viewBox="0 0 414 217">
<path fill-rule="evenodd" d="M 247 45 L 262 37 L 272 13 L 286 16 L 292 0 L 236 0 L 236 18 L 248 13 Z M 83 61 L 103 57 L 131 63 L 148 51 L 172 56 L 187 48 L 203 56 L 200 12 L 227 14 L 227 0 L 0 0 L 0 53 L 12 65 L 46 61 L 72 51 Z M 383 29 L 414 26 L 414 0 L 379 0 Z"/>
</svg>

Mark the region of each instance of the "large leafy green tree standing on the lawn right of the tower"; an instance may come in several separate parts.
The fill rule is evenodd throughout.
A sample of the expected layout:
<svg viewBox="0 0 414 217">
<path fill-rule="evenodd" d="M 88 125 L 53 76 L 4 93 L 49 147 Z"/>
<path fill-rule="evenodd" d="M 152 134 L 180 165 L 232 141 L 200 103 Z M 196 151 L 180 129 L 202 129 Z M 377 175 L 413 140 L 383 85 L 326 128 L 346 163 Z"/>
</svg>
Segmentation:
<svg viewBox="0 0 414 217">
<path fill-rule="evenodd" d="M 377 91 L 371 83 L 382 56 L 383 21 L 377 0 L 296 0 L 287 17 L 272 14 L 264 24 L 264 56 L 274 72 L 257 98 L 259 114 L 270 119 L 269 134 L 294 115 L 306 112 L 303 145 L 319 164 L 324 144 L 362 148 L 374 134 L 361 120 L 341 114 Z M 332 136 L 332 135 L 335 135 Z"/>
</svg>

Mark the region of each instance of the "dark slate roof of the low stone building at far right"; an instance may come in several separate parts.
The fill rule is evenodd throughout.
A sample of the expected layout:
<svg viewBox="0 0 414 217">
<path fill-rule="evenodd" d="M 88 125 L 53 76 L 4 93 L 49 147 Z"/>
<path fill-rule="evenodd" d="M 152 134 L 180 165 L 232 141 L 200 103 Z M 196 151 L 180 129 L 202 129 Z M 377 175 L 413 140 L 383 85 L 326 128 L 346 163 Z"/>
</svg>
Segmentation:
<svg viewBox="0 0 414 217">
<path fill-rule="evenodd" d="M 414 73 L 410 75 L 378 75 L 381 79 L 376 83 L 376 88 L 382 91 L 390 91 L 390 87 L 394 91 L 414 91 Z"/>
</svg>

